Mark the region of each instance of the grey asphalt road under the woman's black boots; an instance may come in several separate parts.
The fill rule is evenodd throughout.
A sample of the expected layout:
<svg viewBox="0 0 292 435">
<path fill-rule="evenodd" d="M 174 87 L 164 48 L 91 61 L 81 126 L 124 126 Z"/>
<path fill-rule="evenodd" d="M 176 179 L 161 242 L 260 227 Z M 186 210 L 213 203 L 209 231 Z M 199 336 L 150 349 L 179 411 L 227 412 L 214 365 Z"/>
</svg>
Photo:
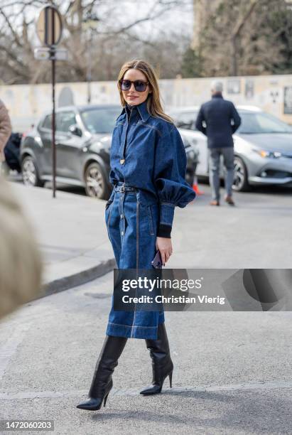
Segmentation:
<svg viewBox="0 0 292 435">
<path fill-rule="evenodd" d="M 166 381 L 163 394 L 139 395 L 151 362 L 144 340 L 132 339 L 107 407 L 75 408 L 87 397 L 111 292 L 112 272 L 2 321 L 1 419 L 54 419 L 62 435 L 292 433 L 289 312 L 168 312 L 173 389 Z"/>
</svg>

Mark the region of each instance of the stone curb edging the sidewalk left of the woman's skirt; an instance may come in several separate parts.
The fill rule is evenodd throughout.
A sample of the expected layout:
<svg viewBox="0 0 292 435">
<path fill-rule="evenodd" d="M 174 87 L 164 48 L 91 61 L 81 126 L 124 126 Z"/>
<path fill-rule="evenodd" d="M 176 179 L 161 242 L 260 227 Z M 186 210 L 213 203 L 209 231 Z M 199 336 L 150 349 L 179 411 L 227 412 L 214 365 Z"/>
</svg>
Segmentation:
<svg viewBox="0 0 292 435">
<path fill-rule="evenodd" d="M 63 278 L 55 279 L 54 281 L 43 284 L 43 292 L 36 296 L 33 301 L 44 298 L 45 296 L 50 296 L 51 294 L 60 293 L 60 291 L 72 289 L 73 287 L 86 284 L 89 281 L 93 281 L 94 279 L 111 272 L 116 265 L 116 260 L 111 258 L 105 262 L 100 262 L 97 266 L 91 267 L 90 269 L 85 269 L 82 272 L 78 272 L 77 274 L 64 276 Z"/>
</svg>

